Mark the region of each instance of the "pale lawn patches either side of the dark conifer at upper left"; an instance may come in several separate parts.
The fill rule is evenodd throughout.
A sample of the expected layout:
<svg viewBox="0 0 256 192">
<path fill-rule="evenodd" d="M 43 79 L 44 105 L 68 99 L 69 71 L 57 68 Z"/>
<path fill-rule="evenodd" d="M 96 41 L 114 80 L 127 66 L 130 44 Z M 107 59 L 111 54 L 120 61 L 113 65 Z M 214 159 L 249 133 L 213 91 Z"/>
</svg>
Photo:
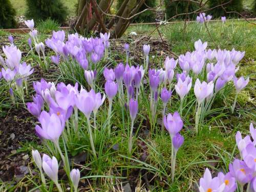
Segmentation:
<svg viewBox="0 0 256 192">
<path fill-rule="evenodd" d="M 14 9 L 16 10 L 17 16 L 25 15 L 27 6 L 25 0 L 10 0 L 11 4 L 13 5 Z M 70 16 L 75 16 L 75 5 L 77 1 L 74 0 L 61 0 L 64 5 L 67 6 L 68 12 Z"/>
</svg>

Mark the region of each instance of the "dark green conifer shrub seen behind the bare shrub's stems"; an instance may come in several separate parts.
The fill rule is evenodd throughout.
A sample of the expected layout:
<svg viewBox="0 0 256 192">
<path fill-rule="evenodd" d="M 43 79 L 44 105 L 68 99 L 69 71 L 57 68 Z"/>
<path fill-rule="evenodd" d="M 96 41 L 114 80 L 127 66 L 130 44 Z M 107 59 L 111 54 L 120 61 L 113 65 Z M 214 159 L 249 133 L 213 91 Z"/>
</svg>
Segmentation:
<svg viewBox="0 0 256 192">
<path fill-rule="evenodd" d="M 137 1 L 138 2 L 138 1 Z M 144 9 L 147 8 L 155 8 L 157 6 L 157 1 L 156 0 L 145 0 L 145 4 L 143 4 L 141 6 L 141 8 L 139 9 L 139 12 L 143 11 Z M 121 5 L 123 3 L 123 0 L 117 0 L 117 5 L 116 5 L 116 9 L 118 10 Z M 147 10 L 141 14 L 139 14 L 138 16 L 136 16 L 133 19 L 134 23 L 141 23 L 141 22 L 155 22 L 156 20 L 156 12 L 155 11 L 151 11 L 151 10 Z"/>
</svg>

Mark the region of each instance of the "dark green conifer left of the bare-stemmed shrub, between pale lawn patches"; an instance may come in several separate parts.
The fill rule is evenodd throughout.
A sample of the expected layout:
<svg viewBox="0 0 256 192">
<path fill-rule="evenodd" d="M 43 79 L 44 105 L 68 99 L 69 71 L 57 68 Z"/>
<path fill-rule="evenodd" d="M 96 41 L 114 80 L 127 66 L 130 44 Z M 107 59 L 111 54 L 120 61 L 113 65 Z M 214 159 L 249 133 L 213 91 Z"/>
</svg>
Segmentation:
<svg viewBox="0 0 256 192">
<path fill-rule="evenodd" d="M 64 23 L 67 17 L 67 8 L 60 0 L 26 0 L 26 17 L 35 22 L 51 18 L 58 23 Z"/>
</svg>

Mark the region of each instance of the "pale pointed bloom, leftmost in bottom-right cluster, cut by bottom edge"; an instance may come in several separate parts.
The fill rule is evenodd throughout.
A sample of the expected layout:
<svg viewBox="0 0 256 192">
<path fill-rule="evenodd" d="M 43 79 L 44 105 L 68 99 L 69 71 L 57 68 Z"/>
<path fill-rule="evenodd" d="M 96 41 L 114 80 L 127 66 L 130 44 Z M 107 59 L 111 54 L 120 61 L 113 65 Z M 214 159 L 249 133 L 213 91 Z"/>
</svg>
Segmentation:
<svg viewBox="0 0 256 192">
<path fill-rule="evenodd" d="M 208 168 L 205 169 L 204 177 L 200 179 L 200 192 L 223 192 L 225 183 L 222 183 L 218 177 L 211 177 Z"/>
</svg>

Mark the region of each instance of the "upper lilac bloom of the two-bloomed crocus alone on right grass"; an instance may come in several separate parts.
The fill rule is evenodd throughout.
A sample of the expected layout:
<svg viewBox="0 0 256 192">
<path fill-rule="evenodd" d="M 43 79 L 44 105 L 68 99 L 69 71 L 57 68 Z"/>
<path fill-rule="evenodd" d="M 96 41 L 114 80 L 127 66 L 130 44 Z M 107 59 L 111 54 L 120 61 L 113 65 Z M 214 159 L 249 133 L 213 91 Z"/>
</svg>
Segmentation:
<svg viewBox="0 0 256 192">
<path fill-rule="evenodd" d="M 169 113 L 167 117 L 164 116 L 163 122 L 171 137 L 175 136 L 183 127 L 183 121 L 178 112 L 174 112 L 173 115 Z"/>
</svg>

